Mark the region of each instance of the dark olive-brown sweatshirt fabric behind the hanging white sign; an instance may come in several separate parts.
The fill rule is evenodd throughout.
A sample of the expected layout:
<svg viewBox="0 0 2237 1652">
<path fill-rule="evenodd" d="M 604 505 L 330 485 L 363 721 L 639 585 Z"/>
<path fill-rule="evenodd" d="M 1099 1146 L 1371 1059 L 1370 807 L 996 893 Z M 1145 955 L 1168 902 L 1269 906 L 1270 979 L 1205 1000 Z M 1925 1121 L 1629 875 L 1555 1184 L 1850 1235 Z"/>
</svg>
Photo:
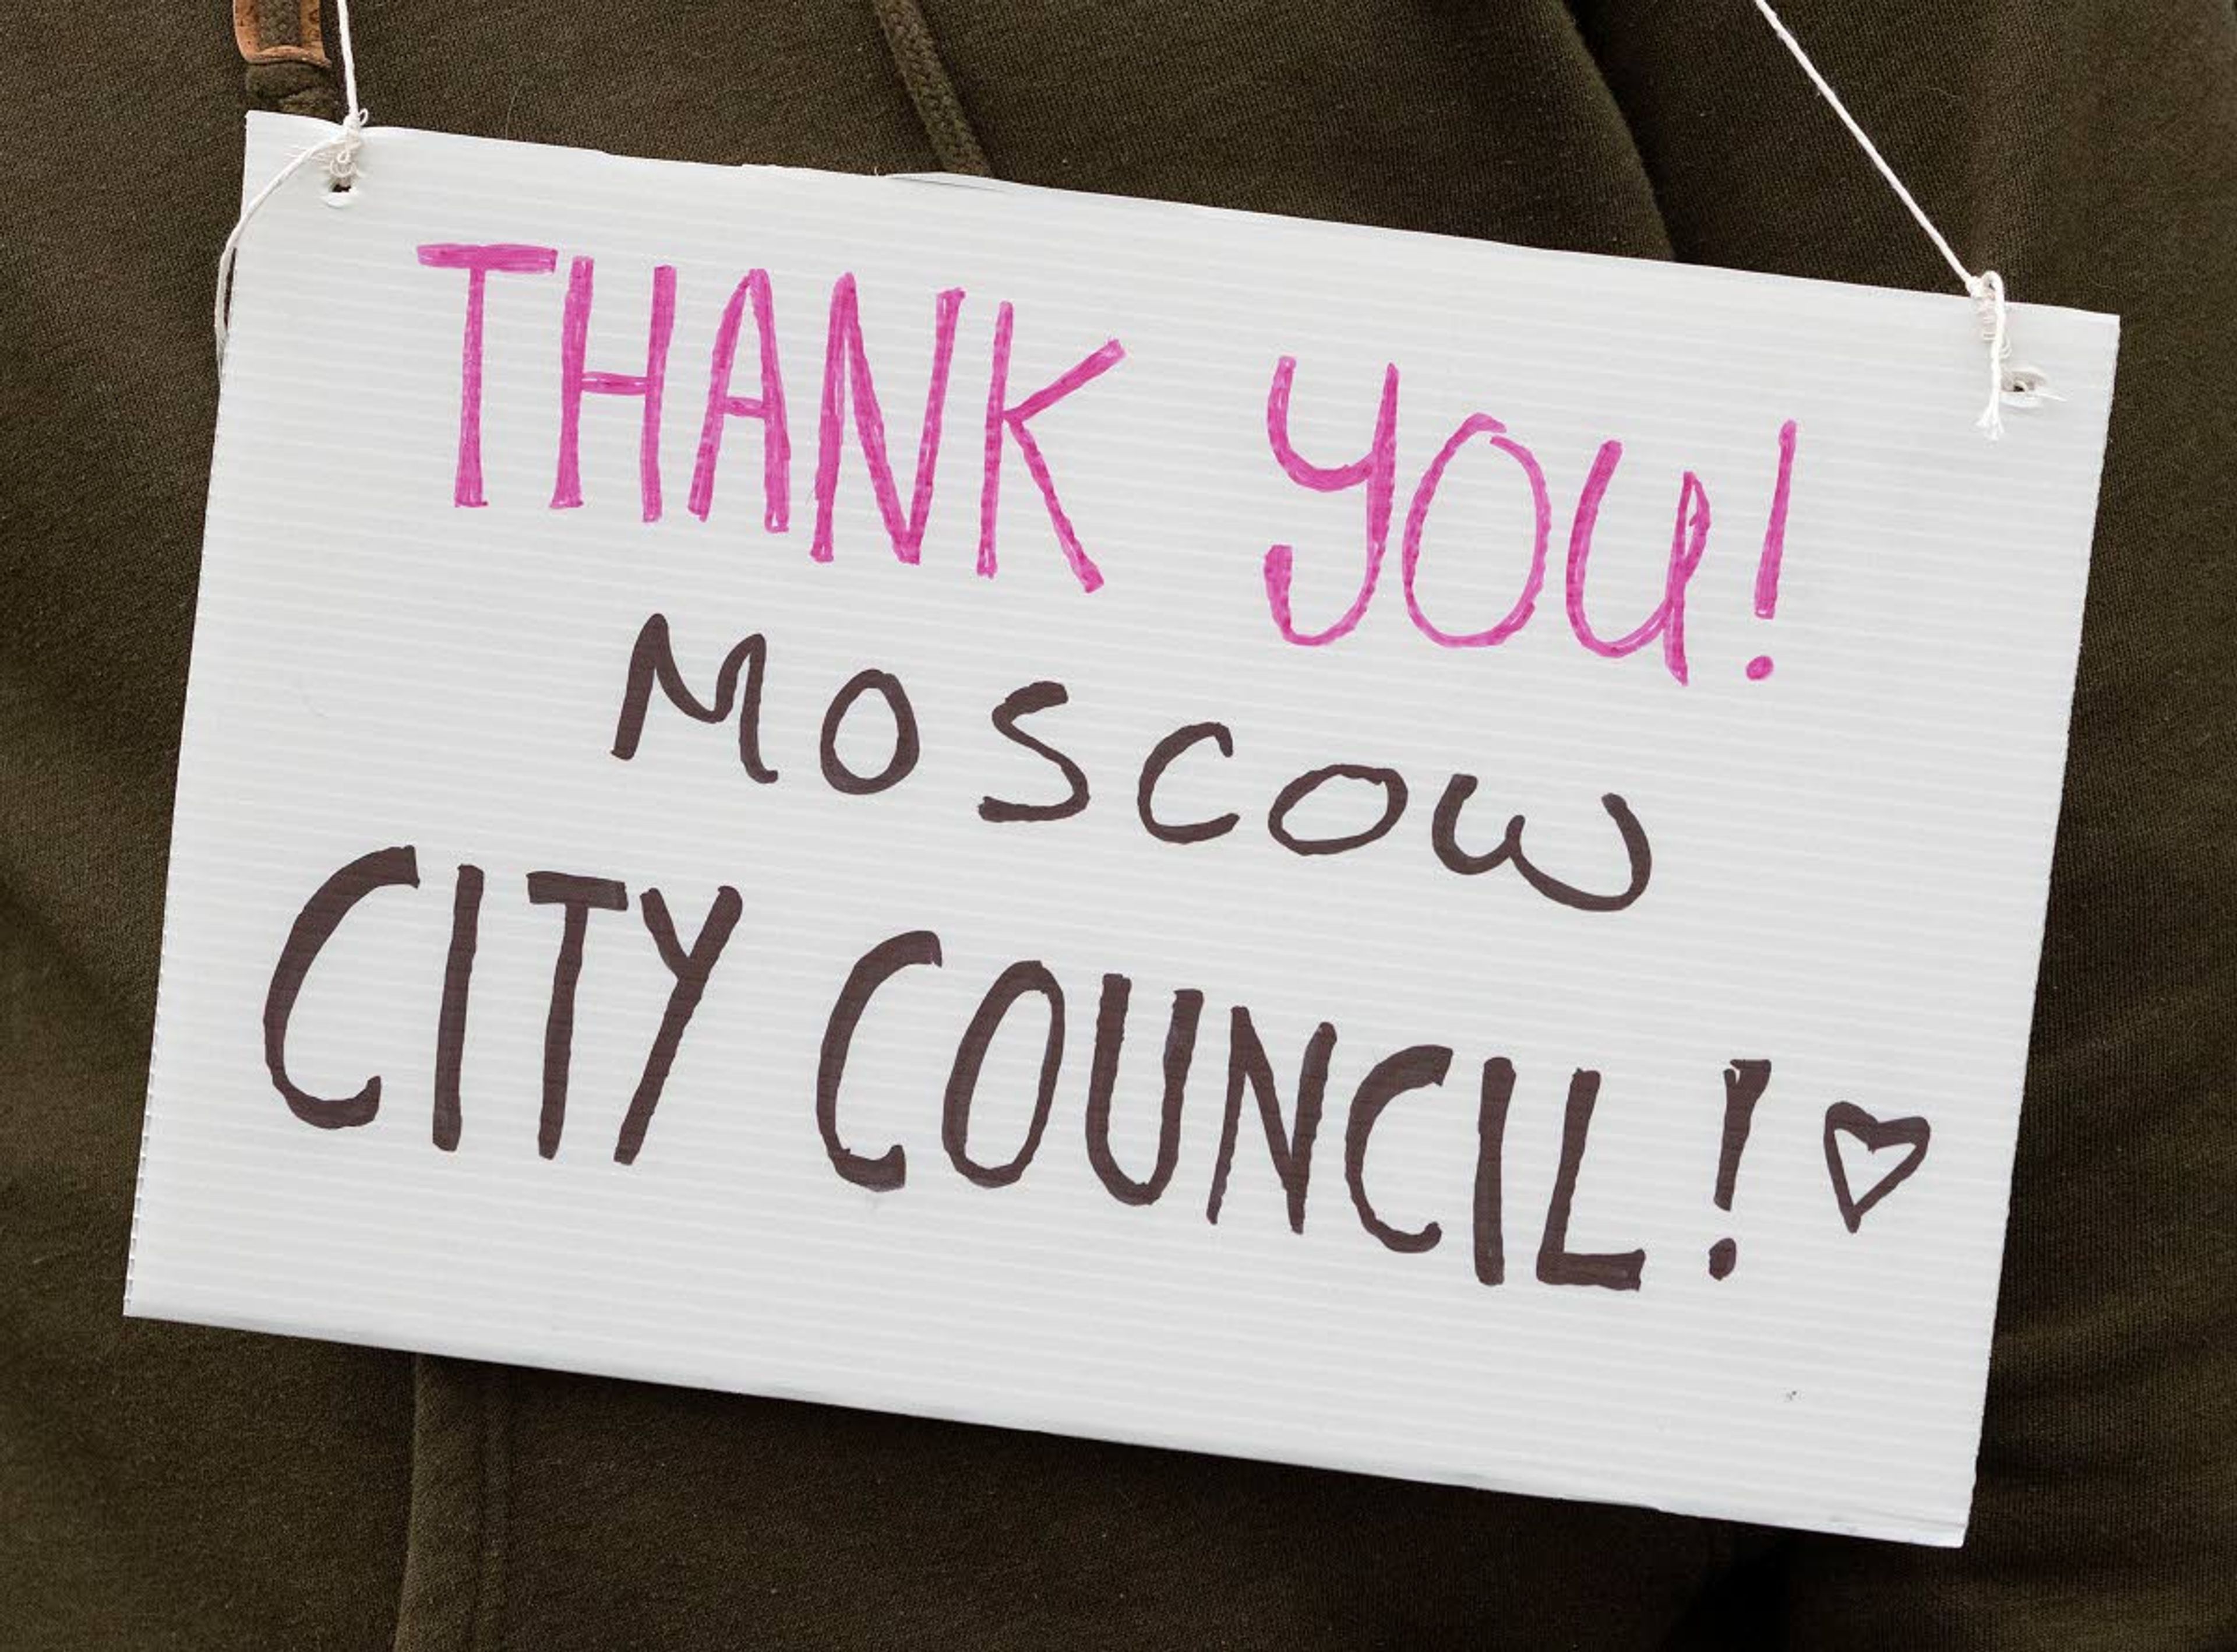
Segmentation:
<svg viewBox="0 0 2237 1652">
<path fill-rule="evenodd" d="M 0 1645 L 2237 1648 L 2237 18 L 1785 13 L 1960 251 L 2125 316 L 1962 1551 L 125 1323 L 210 264 L 244 103 L 331 87 L 244 94 L 221 0 L 11 0 Z M 1747 0 L 362 0 L 358 43 L 380 123 L 1948 284 Z M 302 410 L 347 463 L 315 356 Z"/>
</svg>

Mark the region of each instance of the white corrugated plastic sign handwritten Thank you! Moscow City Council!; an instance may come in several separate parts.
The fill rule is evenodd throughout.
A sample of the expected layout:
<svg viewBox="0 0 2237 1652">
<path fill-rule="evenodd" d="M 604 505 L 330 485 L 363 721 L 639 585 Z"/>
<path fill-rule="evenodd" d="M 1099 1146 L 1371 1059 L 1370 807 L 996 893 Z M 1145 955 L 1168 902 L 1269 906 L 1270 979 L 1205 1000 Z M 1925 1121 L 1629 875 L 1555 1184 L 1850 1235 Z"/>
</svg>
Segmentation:
<svg viewBox="0 0 2237 1652">
<path fill-rule="evenodd" d="M 237 269 L 130 1312 L 1957 1542 L 2011 331 L 1991 443 L 1964 298 L 374 132 Z"/>
</svg>

